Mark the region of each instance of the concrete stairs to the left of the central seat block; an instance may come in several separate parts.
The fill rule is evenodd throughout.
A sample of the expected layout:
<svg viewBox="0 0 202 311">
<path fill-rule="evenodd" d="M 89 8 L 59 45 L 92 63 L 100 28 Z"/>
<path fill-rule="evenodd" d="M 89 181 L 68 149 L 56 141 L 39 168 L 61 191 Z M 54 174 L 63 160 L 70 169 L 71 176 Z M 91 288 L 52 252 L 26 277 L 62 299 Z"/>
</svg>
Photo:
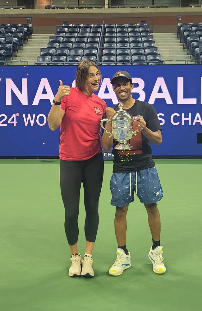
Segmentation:
<svg viewBox="0 0 202 311">
<path fill-rule="evenodd" d="M 51 34 L 50 34 L 51 35 Z M 24 44 L 22 50 L 13 56 L 13 60 L 9 63 L 9 66 L 26 66 L 34 65 L 37 61 L 37 57 L 40 54 L 41 48 L 46 48 L 49 42 L 49 34 L 34 34 L 28 39 L 27 44 Z"/>
</svg>

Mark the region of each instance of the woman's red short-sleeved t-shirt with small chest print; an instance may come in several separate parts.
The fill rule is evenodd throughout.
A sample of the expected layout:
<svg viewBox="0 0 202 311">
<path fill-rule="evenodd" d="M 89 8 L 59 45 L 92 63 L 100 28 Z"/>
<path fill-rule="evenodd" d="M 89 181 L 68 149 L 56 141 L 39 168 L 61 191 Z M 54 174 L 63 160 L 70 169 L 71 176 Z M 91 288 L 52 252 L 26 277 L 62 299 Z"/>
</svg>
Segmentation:
<svg viewBox="0 0 202 311">
<path fill-rule="evenodd" d="M 76 87 L 61 100 L 65 110 L 60 126 L 61 160 L 87 160 L 102 152 L 100 142 L 100 120 L 105 113 L 106 103 L 97 95 L 85 95 Z"/>
</svg>

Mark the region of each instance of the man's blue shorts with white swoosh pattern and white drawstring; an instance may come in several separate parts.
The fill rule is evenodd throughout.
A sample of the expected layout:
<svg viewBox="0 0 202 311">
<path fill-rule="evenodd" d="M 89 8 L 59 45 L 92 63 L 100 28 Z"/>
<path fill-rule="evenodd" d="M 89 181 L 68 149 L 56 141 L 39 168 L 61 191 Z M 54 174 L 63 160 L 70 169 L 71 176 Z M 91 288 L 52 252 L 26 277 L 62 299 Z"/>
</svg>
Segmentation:
<svg viewBox="0 0 202 311">
<path fill-rule="evenodd" d="M 137 185 L 137 187 L 136 187 Z M 113 173 L 110 180 L 111 204 L 125 207 L 134 201 L 134 193 L 141 203 L 152 204 L 163 197 L 163 190 L 154 167 L 131 173 Z"/>
</svg>

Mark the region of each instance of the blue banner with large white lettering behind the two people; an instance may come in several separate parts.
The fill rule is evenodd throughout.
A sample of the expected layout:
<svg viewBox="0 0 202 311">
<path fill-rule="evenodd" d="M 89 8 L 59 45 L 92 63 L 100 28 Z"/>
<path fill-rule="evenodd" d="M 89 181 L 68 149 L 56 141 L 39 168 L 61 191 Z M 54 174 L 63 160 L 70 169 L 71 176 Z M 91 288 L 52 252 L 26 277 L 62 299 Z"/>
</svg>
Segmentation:
<svg viewBox="0 0 202 311">
<path fill-rule="evenodd" d="M 162 125 L 162 144 L 154 156 L 200 156 L 202 145 L 202 67 L 200 65 L 100 66 L 96 93 L 108 106 L 118 100 L 110 78 L 126 70 L 134 83 L 132 96 L 154 105 Z M 75 85 L 75 66 L 0 67 L 0 156 L 58 156 L 59 129 L 48 128 L 47 116 L 59 86 Z M 78 103 L 79 105 L 79 103 Z M 84 114 L 88 112 L 84 111 Z M 105 159 L 112 151 L 103 151 Z"/>
</svg>

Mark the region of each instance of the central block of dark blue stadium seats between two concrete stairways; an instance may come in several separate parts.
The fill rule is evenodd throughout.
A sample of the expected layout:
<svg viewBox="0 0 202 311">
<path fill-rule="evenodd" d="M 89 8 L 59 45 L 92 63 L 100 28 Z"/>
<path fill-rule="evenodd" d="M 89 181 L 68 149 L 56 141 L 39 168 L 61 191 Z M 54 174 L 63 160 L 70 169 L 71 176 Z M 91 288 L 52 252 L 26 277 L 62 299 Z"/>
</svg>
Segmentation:
<svg viewBox="0 0 202 311">
<path fill-rule="evenodd" d="M 144 24 L 74 24 L 73 27 L 63 23 L 62 26 L 56 26 L 55 35 L 49 37 L 47 48 L 41 48 L 35 63 L 76 64 L 85 59 L 100 64 L 162 63 L 149 25 Z M 120 36 L 120 33 L 123 35 Z M 131 33 L 134 35 L 131 36 Z"/>
</svg>

